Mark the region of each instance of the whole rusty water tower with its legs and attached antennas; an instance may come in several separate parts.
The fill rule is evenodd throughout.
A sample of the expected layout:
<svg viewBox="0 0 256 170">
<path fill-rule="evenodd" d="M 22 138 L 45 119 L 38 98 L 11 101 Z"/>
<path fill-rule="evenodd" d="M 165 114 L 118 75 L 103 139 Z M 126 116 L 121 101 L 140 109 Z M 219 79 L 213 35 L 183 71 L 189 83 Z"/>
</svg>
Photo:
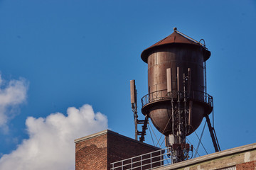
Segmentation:
<svg viewBox="0 0 256 170">
<path fill-rule="evenodd" d="M 204 42 L 204 41 L 203 41 Z M 193 133 L 206 118 L 215 151 L 220 151 L 215 131 L 208 115 L 213 111 L 213 97 L 206 93 L 206 61 L 210 51 L 174 28 L 174 33 L 142 52 L 148 64 L 148 91 L 142 98 L 145 120 L 138 120 L 137 91 L 131 81 L 132 110 L 135 120 L 135 139 L 146 135 L 148 118 L 166 136 L 166 147 L 171 147 L 174 162 L 188 159 L 193 148 L 186 136 Z M 143 124 L 142 131 L 137 124 Z"/>
</svg>

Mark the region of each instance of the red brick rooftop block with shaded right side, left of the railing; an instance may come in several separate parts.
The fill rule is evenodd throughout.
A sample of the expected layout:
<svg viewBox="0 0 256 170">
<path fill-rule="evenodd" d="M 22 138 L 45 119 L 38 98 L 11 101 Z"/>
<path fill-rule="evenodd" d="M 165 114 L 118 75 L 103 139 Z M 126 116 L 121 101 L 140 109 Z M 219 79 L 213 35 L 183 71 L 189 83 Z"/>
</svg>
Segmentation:
<svg viewBox="0 0 256 170">
<path fill-rule="evenodd" d="M 102 134 L 75 143 L 76 170 L 109 170 L 112 162 L 158 149 L 110 130 Z"/>
</svg>

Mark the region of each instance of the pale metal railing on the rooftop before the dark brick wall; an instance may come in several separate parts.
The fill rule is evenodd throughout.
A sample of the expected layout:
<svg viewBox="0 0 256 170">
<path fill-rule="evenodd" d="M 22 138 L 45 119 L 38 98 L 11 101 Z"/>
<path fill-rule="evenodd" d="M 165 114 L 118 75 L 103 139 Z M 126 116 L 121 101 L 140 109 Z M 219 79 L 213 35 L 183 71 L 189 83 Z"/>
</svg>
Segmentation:
<svg viewBox="0 0 256 170">
<path fill-rule="evenodd" d="M 111 163 L 111 170 L 146 170 L 172 164 L 171 147 Z"/>
</svg>

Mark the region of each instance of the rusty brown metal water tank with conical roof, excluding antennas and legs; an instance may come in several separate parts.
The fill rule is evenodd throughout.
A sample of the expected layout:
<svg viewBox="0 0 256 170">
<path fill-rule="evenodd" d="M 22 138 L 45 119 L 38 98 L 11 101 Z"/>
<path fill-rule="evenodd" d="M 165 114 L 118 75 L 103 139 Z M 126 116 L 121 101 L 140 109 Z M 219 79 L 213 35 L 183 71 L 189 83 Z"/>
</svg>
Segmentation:
<svg viewBox="0 0 256 170">
<path fill-rule="evenodd" d="M 191 90 L 186 94 L 188 103 L 186 106 L 181 103 L 181 108 L 189 105 L 191 111 L 191 115 L 188 115 L 188 112 L 184 113 L 188 125 L 186 136 L 190 135 L 201 124 L 204 115 L 210 114 L 213 108 L 211 96 L 204 91 L 206 85 L 203 63 L 210 57 L 210 51 L 201 43 L 174 30 L 171 35 L 144 50 L 141 57 L 148 64 L 149 91 L 149 94 L 142 98 L 142 113 L 148 115 L 156 129 L 164 135 L 174 133 L 177 127 L 173 127 L 173 121 L 176 120 L 170 120 L 172 109 L 175 114 L 178 113 L 177 106 L 172 108 L 171 98 L 167 93 L 166 69 L 171 68 L 174 102 L 178 100 L 178 91 L 183 91 L 185 84 L 181 79 L 177 82 L 177 68 L 181 78 L 188 74 L 188 69 L 191 69 Z"/>
</svg>

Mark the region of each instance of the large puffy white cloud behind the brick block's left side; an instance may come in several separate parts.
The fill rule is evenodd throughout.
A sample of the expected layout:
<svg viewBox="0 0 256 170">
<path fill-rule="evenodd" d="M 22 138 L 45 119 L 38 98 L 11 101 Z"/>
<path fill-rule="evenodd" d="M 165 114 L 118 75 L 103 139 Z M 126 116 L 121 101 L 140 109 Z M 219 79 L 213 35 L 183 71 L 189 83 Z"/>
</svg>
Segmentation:
<svg viewBox="0 0 256 170">
<path fill-rule="evenodd" d="M 1 157 L 0 169 L 75 169 L 74 140 L 107 129 L 107 117 L 90 105 L 68 108 L 67 113 L 27 118 L 28 140 Z"/>
</svg>

